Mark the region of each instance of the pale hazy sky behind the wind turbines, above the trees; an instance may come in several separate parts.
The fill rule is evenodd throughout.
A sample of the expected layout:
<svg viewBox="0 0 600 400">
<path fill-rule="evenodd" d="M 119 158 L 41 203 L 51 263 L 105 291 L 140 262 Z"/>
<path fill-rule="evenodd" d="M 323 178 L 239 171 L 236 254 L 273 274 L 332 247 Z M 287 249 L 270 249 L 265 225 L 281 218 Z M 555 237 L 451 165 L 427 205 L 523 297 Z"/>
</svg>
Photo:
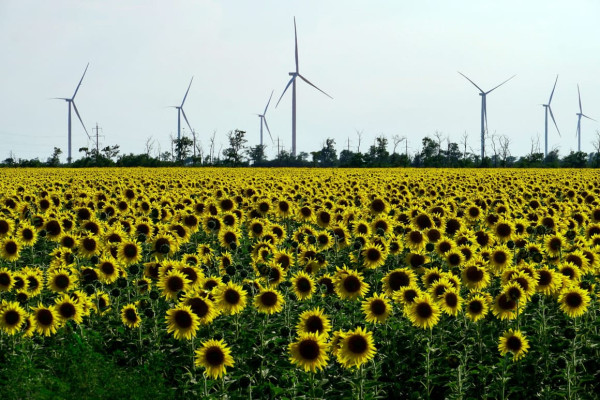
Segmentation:
<svg viewBox="0 0 600 400">
<path fill-rule="evenodd" d="M 67 103 L 89 62 L 76 104 L 101 145 L 141 153 L 170 149 L 177 111 L 194 76 L 185 111 L 205 150 L 217 131 L 247 131 L 259 143 L 267 111 L 274 139 L 291 148 L 291 90 L 275 102 L 294 69 L 293 17 L 298 24 L 300 72 L 333 100 L 298 82 L 298 152 L 320 149 L 327 137 L 340 151 L 361 151 L 380 134 L 421 138 L 463 132 L 479 153 L 478 92 L 517 76 L 488 96 L 490 133 L 511 139 L 513 155 L 529 152 L 552 101 L 562 138 L 552 127 L 549 148 L 576 150 L 577 83 L 583 111 L 600 120 L 600 2 L 354 1 L 354 0 L 0 0 L 0 160 L 45 160 L 67 150 Z M 582 150 L 592 150 L 597 122 L 582 121 Z M 188 130 L 185 130 L 189 133 Z M 266 134 L 267 153 L 276 146 Z M 73 157 L 88 145 L 73 115 Z M 391 151 L 391 146 L 390 146 Z M 489 153 L 489 150 L 488 150 Z"/>
</svg>

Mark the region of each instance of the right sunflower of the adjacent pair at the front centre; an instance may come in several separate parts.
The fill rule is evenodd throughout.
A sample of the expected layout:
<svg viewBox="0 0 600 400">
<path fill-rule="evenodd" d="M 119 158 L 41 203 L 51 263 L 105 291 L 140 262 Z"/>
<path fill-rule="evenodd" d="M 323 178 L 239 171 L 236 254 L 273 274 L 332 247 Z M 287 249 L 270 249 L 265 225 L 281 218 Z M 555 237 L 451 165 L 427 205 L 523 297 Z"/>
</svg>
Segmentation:
<svg viewBox="0 0 600 400">
<path fill-rule="evenodd" d="M 360 367 L 375 357 L 373 333 L 362 327 L 340 335 L 337 359 L 344 368 Z"/>
</svg>

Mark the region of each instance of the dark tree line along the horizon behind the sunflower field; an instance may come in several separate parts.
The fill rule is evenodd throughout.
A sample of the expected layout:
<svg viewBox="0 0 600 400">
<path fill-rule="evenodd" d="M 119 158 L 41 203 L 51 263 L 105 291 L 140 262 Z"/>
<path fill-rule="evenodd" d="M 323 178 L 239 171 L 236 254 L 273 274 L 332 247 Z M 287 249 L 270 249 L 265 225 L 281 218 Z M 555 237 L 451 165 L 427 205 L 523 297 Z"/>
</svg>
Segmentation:
<svg viewBox="0 0 600 400">
<path fill-rule="evenodd" d="M 468 135 L 464 134 L 459 143 L 435 132 L 432 137 L 421 140 L 421 147 L 411 154 L 408 152 L 406 137 L 394 135 L 391 140 L 385 135 L 375 138 L 372 145 L 361 152 L 362 132 L 357 132 L 358 146 L 351 149 L 350 141 L 346 148 L 338 152 L 336 142 L 327 138 L 320 150 L 293 155 L 285 149 L 277 149 L 275 157 L 266 156 L 265 145 L 247 146 L 246 132 L 236 129 L 227 134 L 228 147 L 216 151 L 215 135 L 210 140 L 210 150 L 204 152 L 197 146 L 195 138 L 171 138 L 171 150 L 152 155 L 151 139 L 146 141 L 145 152 L 141 154 L 120 154 L 119 145 L 100 148 L 82 147 L 81 157 L 71 164 L 60 162 L 62 150 L 54 147 L 45 160 L 18 159 L 12 152 L 0 163 L 2 167 L 169 167 L 169 166 L 222 166 L 222 167 L 425 167 L 425 168 L 598 168 L 600 167 L 600 131 L 596 131 L 593 142 L 594 152 L 574 152 L 560 157 L 554 148 L 545 156 L 540 150 L 539 140 L 531 141 L 529 153 L 515 157 L 510 151 L 507 136 L 487 137 L 489 150 L 483 160 L 467 145 Z M 390 152 L 391 148 L 391 152 Z M 404 151 L 403 151 L 404 150 Z"/>
</svg>

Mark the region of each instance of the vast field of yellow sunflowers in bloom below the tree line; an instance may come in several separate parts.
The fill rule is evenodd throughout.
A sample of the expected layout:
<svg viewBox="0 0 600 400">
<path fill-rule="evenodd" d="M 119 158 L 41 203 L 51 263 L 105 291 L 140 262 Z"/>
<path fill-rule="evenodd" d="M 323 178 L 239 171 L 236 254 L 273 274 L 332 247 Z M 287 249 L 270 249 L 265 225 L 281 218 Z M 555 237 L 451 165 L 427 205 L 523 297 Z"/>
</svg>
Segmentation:
<svg viewBox="0 0 600 400">
<path fill-rule="evenodd" d="M 591 170 L 0 170 L 12 398 L 600 398 Z"/>
</svg>

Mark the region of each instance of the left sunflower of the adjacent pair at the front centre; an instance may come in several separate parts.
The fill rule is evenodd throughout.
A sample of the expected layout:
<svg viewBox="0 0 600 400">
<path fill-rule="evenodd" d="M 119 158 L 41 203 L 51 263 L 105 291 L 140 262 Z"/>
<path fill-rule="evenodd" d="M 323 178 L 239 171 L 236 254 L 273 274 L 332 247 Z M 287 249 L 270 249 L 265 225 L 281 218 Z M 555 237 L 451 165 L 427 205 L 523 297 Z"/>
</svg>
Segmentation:
<svg viewBox="0 0 600 400">
<path fill-rule="evenodd" d="M 329 355 L 325 337 L 314 333 L 303 333 L 298 340 L 290 343 L 290 361 L 303 368 L 304 371 L 316 372 L 327 365 Z"/>
</svg>

